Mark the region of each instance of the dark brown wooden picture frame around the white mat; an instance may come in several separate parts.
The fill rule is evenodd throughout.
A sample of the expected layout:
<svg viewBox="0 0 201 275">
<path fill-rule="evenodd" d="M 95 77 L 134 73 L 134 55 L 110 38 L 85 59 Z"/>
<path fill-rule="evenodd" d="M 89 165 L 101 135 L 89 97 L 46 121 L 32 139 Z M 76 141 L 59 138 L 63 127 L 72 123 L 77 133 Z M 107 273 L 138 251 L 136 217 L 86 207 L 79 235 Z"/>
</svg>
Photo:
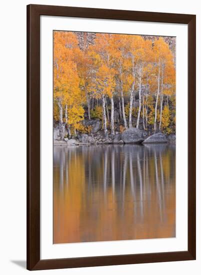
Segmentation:
<svg viewBox="0 0 201 275">
<path fill-rule="evenodd" d="M 187 24 L 188 28 L 188 249 L 159 253 L 40 259 L 40 15 Z M 27 5 L 27 269 L 195 259 L 195 28 L 191 14 Z"/>
</svg>

